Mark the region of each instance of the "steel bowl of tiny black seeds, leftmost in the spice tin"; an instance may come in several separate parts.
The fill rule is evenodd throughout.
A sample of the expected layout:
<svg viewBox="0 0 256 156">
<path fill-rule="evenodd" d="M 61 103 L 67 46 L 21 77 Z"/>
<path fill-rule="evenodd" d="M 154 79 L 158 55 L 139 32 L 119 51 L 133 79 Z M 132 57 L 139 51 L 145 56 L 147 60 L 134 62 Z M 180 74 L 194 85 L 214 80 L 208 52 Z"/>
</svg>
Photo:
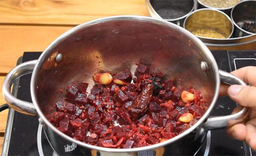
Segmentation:
<svg viewBox="0 0 256 156">
<path fill-rule="evenodd" d="M 185 18 L 195 10 L 196 0 L 146 0 L 150 15 L 183 26 Z"/>
</svg>

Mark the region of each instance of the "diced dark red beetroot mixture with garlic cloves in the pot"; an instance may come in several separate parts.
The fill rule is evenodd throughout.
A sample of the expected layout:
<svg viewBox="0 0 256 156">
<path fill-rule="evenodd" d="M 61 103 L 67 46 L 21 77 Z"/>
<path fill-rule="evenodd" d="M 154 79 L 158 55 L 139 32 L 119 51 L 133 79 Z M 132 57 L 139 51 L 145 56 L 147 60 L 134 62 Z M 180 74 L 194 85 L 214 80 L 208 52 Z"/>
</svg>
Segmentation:
<svg viewBox="0 0 256 156">
<path fill-rule="evenodd" d="M 106 85 L 101 85 L 101 74 L 95 76 L 99 84 L 89 94 L 88 83 L 67 88 L 65 102 L 55 104 L 51 122 L 90 145 L 135 148 L 173 138 L 205 113 L 208 104 L 199 91 L 175 87 L 171 78 L 163 79 L 162 72 L 136 65 L 134 84 L 131 72 L 125 69 L 113 74 L 113 81 L 110 75 Z M 104 74 L 109 76 L 110 72 Z"/>
</svg>

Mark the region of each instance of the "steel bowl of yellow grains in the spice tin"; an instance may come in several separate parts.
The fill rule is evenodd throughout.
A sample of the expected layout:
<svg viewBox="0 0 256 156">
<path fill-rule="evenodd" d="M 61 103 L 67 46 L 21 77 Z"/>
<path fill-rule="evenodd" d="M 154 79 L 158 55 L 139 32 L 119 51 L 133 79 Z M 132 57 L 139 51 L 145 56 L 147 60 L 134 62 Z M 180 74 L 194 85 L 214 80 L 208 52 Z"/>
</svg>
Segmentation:
<svg viewBox="0 0 256 156">
<path fill-rule="evenodd" d="M 201 40 L 230 38 L 233 33 L 231 18 L 215 9 L 193 11 L 185 18 L 183 27 Z"/>
</svg>

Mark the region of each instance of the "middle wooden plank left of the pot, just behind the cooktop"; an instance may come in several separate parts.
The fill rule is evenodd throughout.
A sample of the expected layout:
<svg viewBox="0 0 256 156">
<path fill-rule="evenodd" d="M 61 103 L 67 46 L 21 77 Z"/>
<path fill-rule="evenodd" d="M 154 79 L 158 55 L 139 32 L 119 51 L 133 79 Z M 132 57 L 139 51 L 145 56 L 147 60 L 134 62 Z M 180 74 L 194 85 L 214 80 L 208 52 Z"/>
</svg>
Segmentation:
<svg viewBox="0 0 256 156">
<path fill-rule="evenodd" d="M 52 41 L 71 28 L 0 25 L 0 73 L 12 70 L 23 52 L 44 51 Z"/>
</svg>

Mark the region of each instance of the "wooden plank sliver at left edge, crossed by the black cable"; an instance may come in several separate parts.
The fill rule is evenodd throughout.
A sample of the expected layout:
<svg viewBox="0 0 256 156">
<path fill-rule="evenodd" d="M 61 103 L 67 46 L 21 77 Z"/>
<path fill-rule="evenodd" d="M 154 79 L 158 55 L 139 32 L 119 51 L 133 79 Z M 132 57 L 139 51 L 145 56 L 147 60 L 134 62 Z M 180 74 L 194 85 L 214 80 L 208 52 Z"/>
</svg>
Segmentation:
<svg viewBox="0 0 256 156">
<path fill-rule="evenodd" d="M 4 83 L 5 77 L 0 76 L 0 105 L 5 104 L 5 99 L 2 95 L 2 85 Z M 0 133 L 5 132 L 6 122 L 7 122 L 7 116 L 8 116 L 9 109 L 2 111 L 0 113 Z M 0 147 L 2 149 L 2 147 Z"/>
</svg>

